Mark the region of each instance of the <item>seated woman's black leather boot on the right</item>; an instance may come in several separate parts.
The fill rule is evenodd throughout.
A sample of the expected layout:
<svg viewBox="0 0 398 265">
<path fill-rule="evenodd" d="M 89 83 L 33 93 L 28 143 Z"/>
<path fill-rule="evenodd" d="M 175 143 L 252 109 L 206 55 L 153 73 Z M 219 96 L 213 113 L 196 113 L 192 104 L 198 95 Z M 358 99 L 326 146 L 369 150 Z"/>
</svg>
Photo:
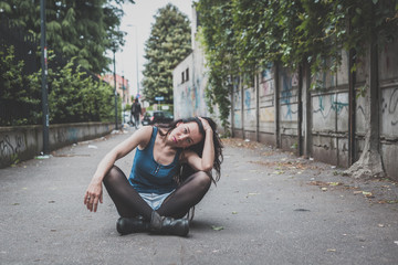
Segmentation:
<svg viewBox="0 0 398 265">
<path fill-rule="evenodd" d="M 189 222 L 187 219 L 172 219 L 160 216 L 153 212 L 150 229 L 155 233 L 186 236 L 189 233 Z"/>
</svg>

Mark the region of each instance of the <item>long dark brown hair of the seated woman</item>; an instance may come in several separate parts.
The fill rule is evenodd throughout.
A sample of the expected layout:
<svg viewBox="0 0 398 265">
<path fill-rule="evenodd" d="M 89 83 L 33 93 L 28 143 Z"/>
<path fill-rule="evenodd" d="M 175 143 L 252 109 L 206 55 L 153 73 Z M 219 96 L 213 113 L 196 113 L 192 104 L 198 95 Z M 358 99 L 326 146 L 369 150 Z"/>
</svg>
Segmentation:
<svg viewBox="0 0 398 265">
<path fill-rule="evenodd" d="M 223 145 L 221 142 L 221 139 L 217 132 L 217 124 L 214 123 L 214 120 L 212 120 L 209 117 L 201 117 L 203 119 L 206 119 L 212 131 L 213 131 L 213 145 L 214 145 L 214 162 L 213 162 L 213 169 L 216 171 L 216 180 L 214 178 L 211 176 L 213 182 L 216 183 L 217 181 L 220 180 L 221 177 L 221 162 L 223 161 L 223 155 L 222 155 L 222 148 Z M 157 124 L 157 127 L 166 129 L 166 132 L 163 132 L 161 130 L 159 130 L 160 136 L 167 136 L 168 134 L 170 134 L 171 130 L 174 130 L 177 127 L 178 123 L 184 123 L 184 124 L 188 124 L 188 123 L 197 123 L 199 128 L 203 128 L 203 125 L 201 124 L 200 119 L 197 117 L 191 117 L 191 118 L 185 118 L 185 119 L 177 119 L 174 120 L 169 124 Z M 203 152 L 203 147 L 205 147 L 205 132 L 200 130 L 200 132 L 203 135 L 203 138 L 200 142 L 188 147 L 188 150 L 192 150 L 196 153 L 198 153 L 198 156 L 201 158 L 202 157 L 202 152 Z M 187 177 L 189 177 L 190 174 L 195 173 L 195 170 L 189 167 L 188 165 L 181 165 L 181 169 L 179 171 L 179 176 L 177 177 L 177 182 L 180 183 L 181 181 L 184 181 Z"/>
</svg>

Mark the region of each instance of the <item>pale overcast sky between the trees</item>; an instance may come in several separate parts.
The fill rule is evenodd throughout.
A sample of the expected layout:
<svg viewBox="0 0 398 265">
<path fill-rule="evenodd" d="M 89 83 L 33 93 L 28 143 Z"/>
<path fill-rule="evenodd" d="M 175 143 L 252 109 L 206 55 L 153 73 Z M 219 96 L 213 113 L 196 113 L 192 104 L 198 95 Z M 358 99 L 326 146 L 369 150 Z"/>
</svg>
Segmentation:
<svg viewBox="0 0 398 265">
<path fill-rule="evenodd" d="M 137 86 L 136 51 L 138 51 L 138 80 L 142 81 L 145 61 L 144 46 L 150 35 L 157 10 L 170 2 L 185 13 L 189 21 L 192 20 L 191 0 L 135 0 L 135 4 L 125 3 L 123 6 L 125 15 L 122 20 L 121 30 L 127 32 L 127 35 L 123 51 L 116 53 L 116 74 L 124 75 L 134 91 Z M 109 68 L 113 71 L 113 65 Z M 139 88 L 142 88 L 140 84 Z"/>
</svg>

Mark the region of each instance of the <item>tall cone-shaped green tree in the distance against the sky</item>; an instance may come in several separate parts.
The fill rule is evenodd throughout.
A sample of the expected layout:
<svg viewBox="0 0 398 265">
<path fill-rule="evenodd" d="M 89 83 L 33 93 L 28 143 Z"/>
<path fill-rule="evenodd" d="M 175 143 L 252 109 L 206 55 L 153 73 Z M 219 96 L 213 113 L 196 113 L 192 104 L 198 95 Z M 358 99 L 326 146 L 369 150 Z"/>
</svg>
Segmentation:
<svg viewBox="0 0 398 265">
<path fill-rule="evenodd" d="M 163 96 L 172 104 L 172 70 L 191 52 L 190 32 L 187 15 L 175 6 L 158 10 L 145 43 L 143 93 L 148 102 Z"/>
</svg>

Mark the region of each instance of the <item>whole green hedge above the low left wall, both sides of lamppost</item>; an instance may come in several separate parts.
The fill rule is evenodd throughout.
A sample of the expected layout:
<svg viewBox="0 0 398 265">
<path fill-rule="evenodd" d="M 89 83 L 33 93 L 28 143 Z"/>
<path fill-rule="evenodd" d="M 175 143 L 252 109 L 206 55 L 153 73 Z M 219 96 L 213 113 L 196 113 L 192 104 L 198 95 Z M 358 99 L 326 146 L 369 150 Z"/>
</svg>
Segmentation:
<svg viewBox="0 0 398 265">
<path fill-rule="evenodd" d="M 0 49 L 0 126 L 41 124 L 41 70 L 25 76 L 22 68 L 23 62 L 15 62 L 12 46 Z M 115 119 L 114 88 L 93 80 L 74 60 L 49 68 L 48 84 L 51 124 Z M 121 120 L 121 98 L 117 109 Z"/>
</svg>

